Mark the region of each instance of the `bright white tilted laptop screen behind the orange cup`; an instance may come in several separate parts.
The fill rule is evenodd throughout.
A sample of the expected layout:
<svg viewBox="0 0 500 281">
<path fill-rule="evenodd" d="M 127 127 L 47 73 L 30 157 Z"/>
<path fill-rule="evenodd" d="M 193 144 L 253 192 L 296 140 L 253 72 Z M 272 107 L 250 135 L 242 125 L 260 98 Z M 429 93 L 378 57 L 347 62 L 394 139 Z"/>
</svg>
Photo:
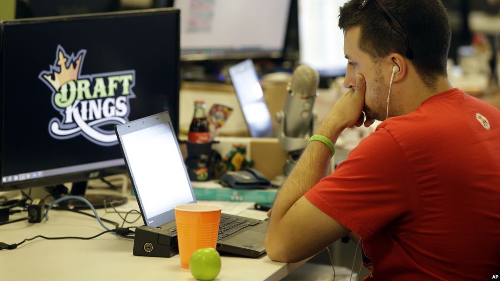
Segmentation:
<svg viewBox="0 0 500 281">
<path fill-rule="evenodd" d="M 167 112 L 118 125 L 116 132 L 146 225 L 172 221 L 174 205 L 195 202 Z"/>
</svg>

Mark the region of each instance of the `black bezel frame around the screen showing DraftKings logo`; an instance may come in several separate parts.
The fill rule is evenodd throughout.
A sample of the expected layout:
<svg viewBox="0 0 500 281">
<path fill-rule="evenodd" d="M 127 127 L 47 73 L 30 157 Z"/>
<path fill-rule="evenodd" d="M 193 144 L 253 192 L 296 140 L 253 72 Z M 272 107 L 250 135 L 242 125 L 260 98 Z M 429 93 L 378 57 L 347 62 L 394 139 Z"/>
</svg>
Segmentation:
<svg viewBox="0 0 500 281">
<path fill-rule="evenodd" d="M 142 16 L 144 14 L 154 13 L 154 14 L 176 14 L 176 22 L 177 22 L 177 30 L 176 30 L 176 41 L 179 44 L 176 45 L 176 86 L 175 91 L 177 93 L 176 101 L 174 102 L 175 111 L 177 114 L 177 120 L 179 118 L 179 90 L 180 90 L 180 10 L 177 8 L 153 8 L 153 9 L 141 9 L 141 10 L 126 10 L 126 11 L 113 11 L 113 12 L 99 12 L 99 13 L 87 13 L 87 14 L 76 14 L 76 15 L 60 15 L 60 16 L 47 16 L 47 17 L 33 17 L 33 18 L 20 18 L 13 20 L 5 20 L 0 21 L 0 106 L 3 108 L 3 61 L 4 61 L 4 36 L 3 31 L 6 25 L 18 25 L 18 24 L 35 24 L 35 23 L 46 23 L 46 22 L 60 22 L 60 21 L 72 21 L 72 20 L 92 20 L 92 19 L 106 19 L 113 17 L 130 17 L 134 15 Z M 178 135 L 178 123 L 173 124 L 174 132 Z M 118 144 L 116 144 L 118 145 Z M 3 151 L 3 115 L 0 114 L 0 157 L 1 151 Z M 121 156 L 119 152 L 119 148 L 116 147 L 117 156 Z M 29 187 L 38 187 L 38 186 L 47 186 L 47 185 L 56 185 L 62 184 L 65 182 L 76 182 L 76 181 L 85 181 L 93 178 L 101 178 L 108 175 L 113 174 L 121 174 L 126 173 L 125 162 L 122 157 L 117 157 L 112 159 L 111 161 L 115 161 L 116 164 L 112 164 L 107 167 L 101 168 L 90 168 L 90 169 L 82 169 L 77 172 L 69 172 L 51 176 L 37 177 L 31 179 L 25 179 L 22 181 L 12 181 L 12 182 L 2 182 L 0 180 L 0 191 L 7 190 L 15 190 Z M 119 164 L 117 163 L 119 161 Z M 99 164 L 104 161 L 97 161 L 87 164 Z M 2 162 L 0 161 L 0 173 L 3 175 Z M 26 171 L 31 172 L 31 171 Z"/>
</svg>

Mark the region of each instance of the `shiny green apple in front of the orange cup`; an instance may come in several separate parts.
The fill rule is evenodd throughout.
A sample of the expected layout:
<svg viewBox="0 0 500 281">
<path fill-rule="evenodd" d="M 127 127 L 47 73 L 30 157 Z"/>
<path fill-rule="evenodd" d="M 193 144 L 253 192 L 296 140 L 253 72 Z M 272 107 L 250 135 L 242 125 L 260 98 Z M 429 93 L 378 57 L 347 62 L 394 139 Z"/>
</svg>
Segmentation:
<svg viewBox="0 0 500 281">
<path fill-rule="evenodd" d="M 213 280 L 220 273 L 220 255 L 214 248 L 197 249 L 189 259 L 189 269 L 198 280 Z"/>
</svg>

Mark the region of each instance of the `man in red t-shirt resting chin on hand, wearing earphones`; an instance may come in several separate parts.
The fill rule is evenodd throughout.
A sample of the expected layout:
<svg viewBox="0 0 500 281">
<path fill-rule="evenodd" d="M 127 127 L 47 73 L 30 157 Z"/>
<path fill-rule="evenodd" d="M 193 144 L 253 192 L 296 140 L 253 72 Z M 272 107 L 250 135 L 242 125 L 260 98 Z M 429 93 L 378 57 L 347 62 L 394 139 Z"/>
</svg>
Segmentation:
<svg viewBox="0 0 500 281">
<path fill-rule="evenodd" d="M 350 234 L 365 280 L 491 279 L 500 270 L 500 111 L 449 83 L 441 2 L 350 0 L 339 26 L 350 90 L 276 196 L 268 256 L 297 261 Z M 383 122 L 323 177 L 340 132 L 374 119 Z"/>
</svg>

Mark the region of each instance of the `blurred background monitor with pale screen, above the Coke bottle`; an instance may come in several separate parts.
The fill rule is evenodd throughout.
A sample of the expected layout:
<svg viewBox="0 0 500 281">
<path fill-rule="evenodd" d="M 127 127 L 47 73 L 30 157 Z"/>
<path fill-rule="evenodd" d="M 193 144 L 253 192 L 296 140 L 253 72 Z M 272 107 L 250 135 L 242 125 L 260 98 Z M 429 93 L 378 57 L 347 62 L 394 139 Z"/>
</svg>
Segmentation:
<svg viewBox="0 0 500 281">
<path fill-rule="evenodd" d="M 175 0 L 181 60 L 281 57 L 290 0 Z"/>
</svg>

